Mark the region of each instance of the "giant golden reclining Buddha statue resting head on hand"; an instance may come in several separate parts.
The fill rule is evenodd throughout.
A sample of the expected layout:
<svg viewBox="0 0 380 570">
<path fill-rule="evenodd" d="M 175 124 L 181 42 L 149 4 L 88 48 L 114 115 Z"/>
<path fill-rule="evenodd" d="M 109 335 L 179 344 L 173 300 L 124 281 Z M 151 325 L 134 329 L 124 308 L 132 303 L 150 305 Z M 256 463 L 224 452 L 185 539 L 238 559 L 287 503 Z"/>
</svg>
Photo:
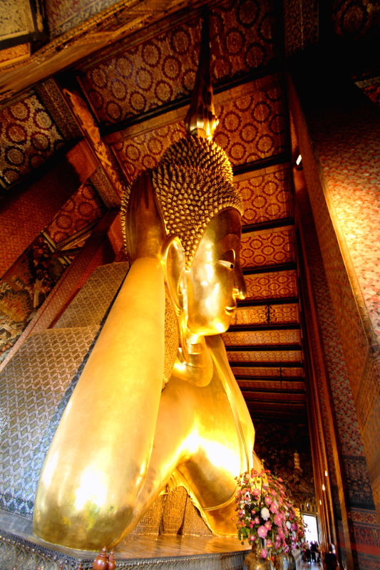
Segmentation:
<svg viewBox="0 0 380 570">
<path fill-rule="evenodd" d="M 49 542 L 114 546 L 169 480 L 188 489 L 213 532 L 235 534 L 236 477 L 260 468 L 220 338 L 246 295 L 242 200 L 227 155 L 212 142 L 217 119 L 202 65 L 187 137 L 125 192 L 130 271 L 36 492 L 34 533 Z"/>
</svg>

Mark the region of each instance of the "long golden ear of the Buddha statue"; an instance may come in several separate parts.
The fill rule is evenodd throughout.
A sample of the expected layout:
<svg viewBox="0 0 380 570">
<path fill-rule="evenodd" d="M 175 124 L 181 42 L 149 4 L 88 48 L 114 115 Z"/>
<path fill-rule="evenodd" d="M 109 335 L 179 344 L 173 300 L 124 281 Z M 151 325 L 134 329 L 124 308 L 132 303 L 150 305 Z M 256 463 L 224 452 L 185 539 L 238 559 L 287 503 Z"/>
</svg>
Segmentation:
<svg viewBox="0 0 380 570">
<path fill-rule="evenodd" d="M 177 316 L 180 332 L 180 344 L 183 357 L 188 361 L 188 345 L 186 331 L 188 330 L 188 288 L 186 282 L 185 250 L 180 238 L 175 235 L 166 237 L 161 248 L 161 261 L 165 275 L 165 285 L 168 296 Z"/>
</svg>

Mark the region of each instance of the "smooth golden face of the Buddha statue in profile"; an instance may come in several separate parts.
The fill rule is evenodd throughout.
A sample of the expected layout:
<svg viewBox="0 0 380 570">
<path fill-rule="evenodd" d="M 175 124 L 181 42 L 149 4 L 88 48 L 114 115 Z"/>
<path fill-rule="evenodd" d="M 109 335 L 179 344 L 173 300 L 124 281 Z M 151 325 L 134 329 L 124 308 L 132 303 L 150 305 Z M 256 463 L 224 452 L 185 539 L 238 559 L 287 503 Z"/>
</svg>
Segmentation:
<svg viewBox="0 0 380 570">
<path fill-rule="evenodd" d="M 227 331 L 237 299 L 247 289 L 240 267 L 240 214 L 219 212 L 208 225 L 187 274 L 188 329 L 197 335 Z"/>
</svg>

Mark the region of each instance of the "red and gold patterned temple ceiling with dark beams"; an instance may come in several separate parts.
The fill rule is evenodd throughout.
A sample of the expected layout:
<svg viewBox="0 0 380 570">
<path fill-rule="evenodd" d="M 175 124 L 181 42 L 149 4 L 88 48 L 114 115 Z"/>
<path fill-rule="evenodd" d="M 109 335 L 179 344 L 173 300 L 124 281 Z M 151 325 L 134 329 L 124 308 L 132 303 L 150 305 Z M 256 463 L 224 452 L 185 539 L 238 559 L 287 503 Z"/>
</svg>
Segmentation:
<svg viewBox="0 0 380 570">
<path fill-rule="evenodd" d="M 73 4 L 46 1 L 42 39 L 30 29 L 24 43 L 9 45 L 0 35 L 4 353 L 99 220 L 120 206 L 123 187 L 185 135 L 205 2 Z M 306 4 L 285 1 L 283 18 L 276 0 L 208 3 L 215 142 L 230 157 L 245 207 L 248 294 L 222 336 L 253 418 L 307 413 L 284 67 L 285 54 L 317 37 L 316 6 Z M 350 8 L 339 6 L 342 34 Z M 376 82 L 367 83 L 374 92 Z M 50 260 L 42 292 L 30 261 L 38 251 Z"/>
</svg>

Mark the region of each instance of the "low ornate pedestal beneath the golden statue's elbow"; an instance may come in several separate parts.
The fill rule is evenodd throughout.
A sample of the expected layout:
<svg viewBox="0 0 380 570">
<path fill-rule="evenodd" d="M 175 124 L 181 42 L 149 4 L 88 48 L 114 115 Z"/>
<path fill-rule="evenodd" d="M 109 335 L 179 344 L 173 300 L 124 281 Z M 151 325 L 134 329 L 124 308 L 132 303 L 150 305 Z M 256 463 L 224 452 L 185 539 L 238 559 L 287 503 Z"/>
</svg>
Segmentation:
<svg viewBox="0 0 380 570">
<path fill-rule="evenodd" d="M 135 534 L 115 548 L 116 570 L 242 570 L 249 551 L 235 537 Z M 1 570 L 91 570 L 96 555 L 48 544 L 33 536 L 29 519 L 0 511 Z"/>
</svg>

